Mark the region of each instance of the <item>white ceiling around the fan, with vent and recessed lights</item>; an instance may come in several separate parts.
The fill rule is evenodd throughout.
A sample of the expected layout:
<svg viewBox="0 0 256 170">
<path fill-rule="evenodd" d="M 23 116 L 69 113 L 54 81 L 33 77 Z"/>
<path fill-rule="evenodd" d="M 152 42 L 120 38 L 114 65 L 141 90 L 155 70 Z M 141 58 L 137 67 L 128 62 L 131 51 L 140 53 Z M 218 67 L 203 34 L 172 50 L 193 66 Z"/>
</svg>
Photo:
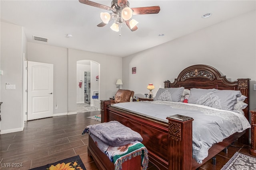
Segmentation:
<svg viewBox="0 0 256 170">
<path fill-rule="evenodd" d="M 111 0 L 92 0 L 110 6 Z M 255 0 L 129 0 L 130 8 L 160 6 L 159 14 L 134 15 L 138 29 L 97 27 L 100 12 L 78 0 L 1 0 L 1 21 L 21 25 L 28 42 L 125 57 L 255 10 Z M 201 18 L 212 13 L 210 18 Z M 66 37 L 72 34 L 72 38 Z M 159 34 L 164 34 L 159 37 Z M 48 38 L 48 42 L 32 36 Z"/>
</svg>

